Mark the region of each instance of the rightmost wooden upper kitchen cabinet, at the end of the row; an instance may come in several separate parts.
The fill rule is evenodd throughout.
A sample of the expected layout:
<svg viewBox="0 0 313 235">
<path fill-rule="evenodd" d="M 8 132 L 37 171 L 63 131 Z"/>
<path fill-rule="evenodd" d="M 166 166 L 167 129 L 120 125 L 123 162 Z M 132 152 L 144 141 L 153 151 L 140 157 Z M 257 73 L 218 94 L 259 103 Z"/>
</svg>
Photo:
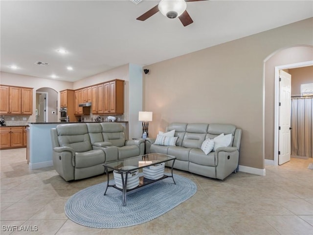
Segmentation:
<svg viewBox="0 0 313 235">
<path fill-rule="evenodd" d="M 104 83 L 104 114 L 124 113 L 124 80 Z"/>
</svg>

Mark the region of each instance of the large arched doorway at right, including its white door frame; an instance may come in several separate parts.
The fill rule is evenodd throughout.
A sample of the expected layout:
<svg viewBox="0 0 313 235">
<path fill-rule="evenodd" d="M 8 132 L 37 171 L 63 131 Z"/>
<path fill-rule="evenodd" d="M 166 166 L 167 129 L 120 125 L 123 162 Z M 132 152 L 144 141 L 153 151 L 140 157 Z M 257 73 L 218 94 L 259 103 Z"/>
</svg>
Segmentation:
<svg viewBox="0 0 313 235">
<path fill-rule="evenodd" d="M 275 74 L 277 69 L 285 69 L 287 65 L 298 64 L 298 67 L 306 66 L 313 59 L 313 46 L 291 46 L 276 51 L 264 61 L 264 153 L 265 163 L 278 165 L 278 124 L 277 114 L 277 87 L 275 87 Z M 275 73 L 276 68 L 276 73 Z M 278 78 L 277 78 L 278 79 Z M 276 84 L 277 86 L 277 84 Z"/>
</svg>

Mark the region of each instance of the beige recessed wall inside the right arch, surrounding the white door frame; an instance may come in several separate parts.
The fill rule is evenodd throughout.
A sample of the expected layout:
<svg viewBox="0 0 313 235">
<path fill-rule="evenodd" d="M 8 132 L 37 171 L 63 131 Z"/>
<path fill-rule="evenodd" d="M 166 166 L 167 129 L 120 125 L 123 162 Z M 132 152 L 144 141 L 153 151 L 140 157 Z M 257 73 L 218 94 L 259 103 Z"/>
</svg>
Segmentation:
<svg viewBox="0 0 313 235">
<path fill-rule="evenodd" d="M 275 52 L 265 63 L 265 159 L 274 160 L 275 66 L 310 60 L 313 60 L 312 47 L 293 46 Z"/>
</svg>

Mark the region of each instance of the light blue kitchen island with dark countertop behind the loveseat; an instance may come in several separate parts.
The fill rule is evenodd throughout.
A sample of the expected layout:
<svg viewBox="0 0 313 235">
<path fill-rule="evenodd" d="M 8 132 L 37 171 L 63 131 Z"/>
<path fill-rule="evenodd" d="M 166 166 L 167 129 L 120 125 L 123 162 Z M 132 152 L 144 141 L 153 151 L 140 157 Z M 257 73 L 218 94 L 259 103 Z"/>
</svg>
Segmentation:
<svg viewBox="0 0 313 235">
<path fill-rule="evenodd" d="M 121 123 L 126 130 L 128 138 L 128 121 L 116 121 Z M 27 157 L 29 160 L 29 169 L 38 169 L 53 166 L 52 163 L 52 145 L 50 129 L 60 124 L 79 123 L 79 122 L 30 122 L 27 136 Z M 90 122 L 82 122 L 90 123 Z M 94 123 L 94 122 L 93 122 Z"/>
</svg>

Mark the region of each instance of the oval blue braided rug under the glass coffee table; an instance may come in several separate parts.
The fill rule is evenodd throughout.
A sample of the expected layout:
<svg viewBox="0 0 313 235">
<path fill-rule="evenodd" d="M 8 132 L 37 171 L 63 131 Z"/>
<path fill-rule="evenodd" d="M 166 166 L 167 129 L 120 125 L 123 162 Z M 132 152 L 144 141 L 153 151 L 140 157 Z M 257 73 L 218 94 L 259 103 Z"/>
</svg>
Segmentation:
<svg viewBox="0 0 313 235">
<path fill-rule="evenodd" d="M 197 192 L 190 179 L 174 175 L 127 193 L 122 206 L 122 192 L 107 182 L 83 189 L 65 204 L 65 214 L 75 223 L 92 228 L 123 228 L 148 222 L 165 214 Z M 113 184 L 114 180 L 110 180 Z"/>
</svg>

